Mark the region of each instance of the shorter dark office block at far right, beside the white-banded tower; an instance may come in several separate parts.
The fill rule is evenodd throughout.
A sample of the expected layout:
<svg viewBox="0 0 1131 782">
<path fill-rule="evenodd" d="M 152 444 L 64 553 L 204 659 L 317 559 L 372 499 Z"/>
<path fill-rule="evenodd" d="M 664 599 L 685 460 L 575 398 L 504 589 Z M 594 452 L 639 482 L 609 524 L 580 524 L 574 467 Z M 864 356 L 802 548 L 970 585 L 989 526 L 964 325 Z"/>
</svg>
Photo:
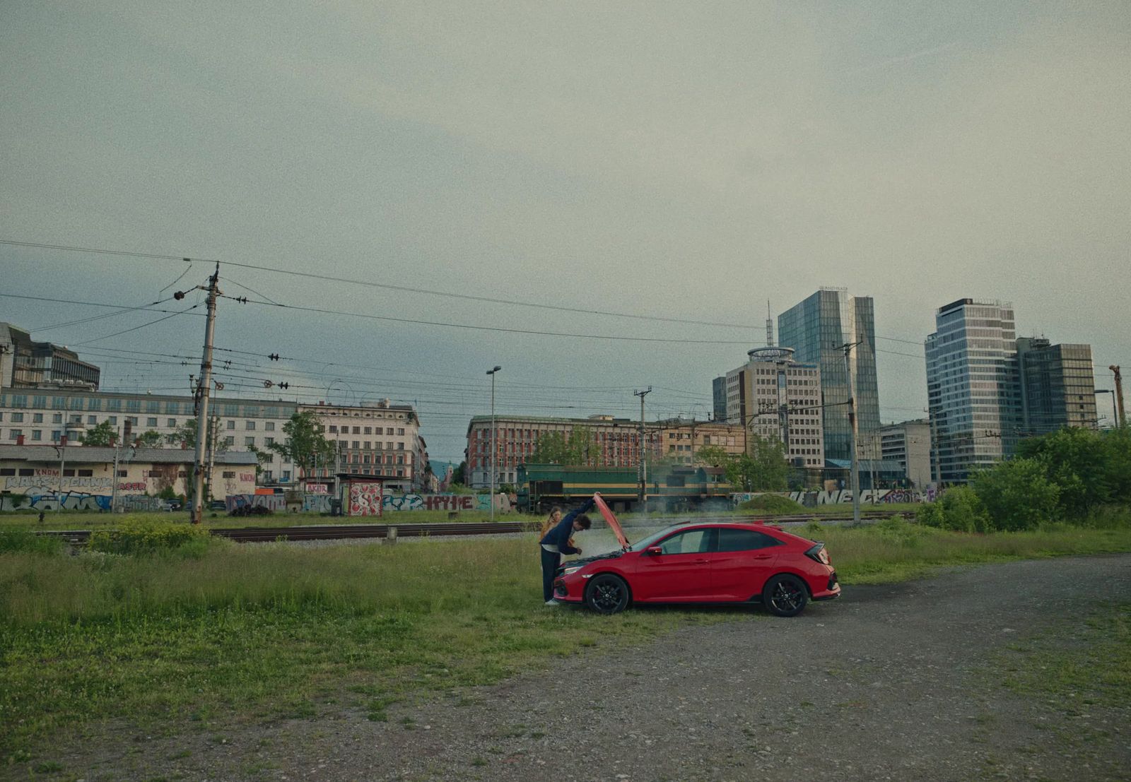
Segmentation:
<svg viewBox="0 0 1131 782">
<path fill-rule="evenodd" d="M 1021 337 L 1017 360 L 1025 434 L 1097 427 L 1090 345 L 1051 345 L 1044 337 Z"/>
</svg>

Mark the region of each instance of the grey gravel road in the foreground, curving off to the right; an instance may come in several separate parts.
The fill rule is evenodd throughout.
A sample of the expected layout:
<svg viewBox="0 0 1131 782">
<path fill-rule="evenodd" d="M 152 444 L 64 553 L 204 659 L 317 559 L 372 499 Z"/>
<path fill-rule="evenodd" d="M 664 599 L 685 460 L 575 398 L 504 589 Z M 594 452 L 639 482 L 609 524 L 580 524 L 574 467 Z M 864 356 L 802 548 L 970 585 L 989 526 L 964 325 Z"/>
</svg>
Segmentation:
<svg viewBox="0 0 1131 782">
<path fill-rule="evenodd" d="M 60 759 L 89 780 L 1125 780 L 1131 710 L 1070 716 L 999 684 L 1007 645 L 1071 644 L 1097 599 L 1131 600 L 1131 555 L 849 586 L 794 619 L 735 612 L 388 722 L 344 713 Z"/>
</svg>

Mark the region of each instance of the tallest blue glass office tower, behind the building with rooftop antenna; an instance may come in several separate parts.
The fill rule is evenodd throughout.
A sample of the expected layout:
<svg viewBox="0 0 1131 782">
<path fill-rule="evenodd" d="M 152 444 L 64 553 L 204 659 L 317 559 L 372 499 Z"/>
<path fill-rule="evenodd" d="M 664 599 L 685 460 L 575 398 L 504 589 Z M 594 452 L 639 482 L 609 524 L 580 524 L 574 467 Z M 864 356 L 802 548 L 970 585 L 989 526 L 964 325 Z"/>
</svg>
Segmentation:
<svg viewBox="0 0 1131 782">
<path fill-rule="evenodd" d="M 861 459 L 879 459 L 880 394 L 875 380 L 874 305 L 871 296 L 849 296 L 845 288 L 821 288 L 778 315 L 778 345 L 793 348 L 796 360 L 821 370 L 823 444 L 827 459 L 852 459 L 848 424 L 848 373 L 841 346 L 857 340 L 848 360 L 856 389 Z"/>
</svg>

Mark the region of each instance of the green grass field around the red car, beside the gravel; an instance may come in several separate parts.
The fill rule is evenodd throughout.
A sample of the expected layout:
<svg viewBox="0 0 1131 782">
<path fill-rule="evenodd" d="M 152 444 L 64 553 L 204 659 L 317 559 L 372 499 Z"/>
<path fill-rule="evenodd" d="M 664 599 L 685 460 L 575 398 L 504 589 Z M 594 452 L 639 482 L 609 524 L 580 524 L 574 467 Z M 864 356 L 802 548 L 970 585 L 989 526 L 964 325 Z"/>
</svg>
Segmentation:
<svg viewBox="0 0 1131 782">
<path fill-rule="evenodd" d="M 939 567 L 1131 550 L 1131 525 L 973 536 L 899 520 L 796 530 L 824 540 L 841 582 Z M 587 553 L 611 545 L 586 532 Z M 637 536 L 639 537 L 639 532 Z M 580 541 L 579 541 L 580 542 Z M 632 645 L 744 608 L 602 617 L 541 605 L 533 536 L 400 546 L 206 546 L 143 556 L 0 554 L 0 758 L 57 731 L 124 719 L 385 716 L 396 700 L 458 690 L 580 650 Z"/>
</svg>

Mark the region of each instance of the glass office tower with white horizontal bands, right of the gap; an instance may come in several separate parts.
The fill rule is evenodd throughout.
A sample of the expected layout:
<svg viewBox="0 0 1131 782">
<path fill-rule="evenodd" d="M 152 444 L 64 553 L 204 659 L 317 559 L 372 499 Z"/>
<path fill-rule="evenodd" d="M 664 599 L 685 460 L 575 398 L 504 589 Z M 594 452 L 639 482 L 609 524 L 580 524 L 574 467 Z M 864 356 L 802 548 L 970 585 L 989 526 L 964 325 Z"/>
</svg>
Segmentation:
<svg viewBox="0 0 1131 782">
<path fill-rule="evenodd" d="M 935 479 L 965 483 L 1010 455 L 1021 432 L 1013 307 L 960 298 L 926 338 L 926 392 Z"/>
</svg>

